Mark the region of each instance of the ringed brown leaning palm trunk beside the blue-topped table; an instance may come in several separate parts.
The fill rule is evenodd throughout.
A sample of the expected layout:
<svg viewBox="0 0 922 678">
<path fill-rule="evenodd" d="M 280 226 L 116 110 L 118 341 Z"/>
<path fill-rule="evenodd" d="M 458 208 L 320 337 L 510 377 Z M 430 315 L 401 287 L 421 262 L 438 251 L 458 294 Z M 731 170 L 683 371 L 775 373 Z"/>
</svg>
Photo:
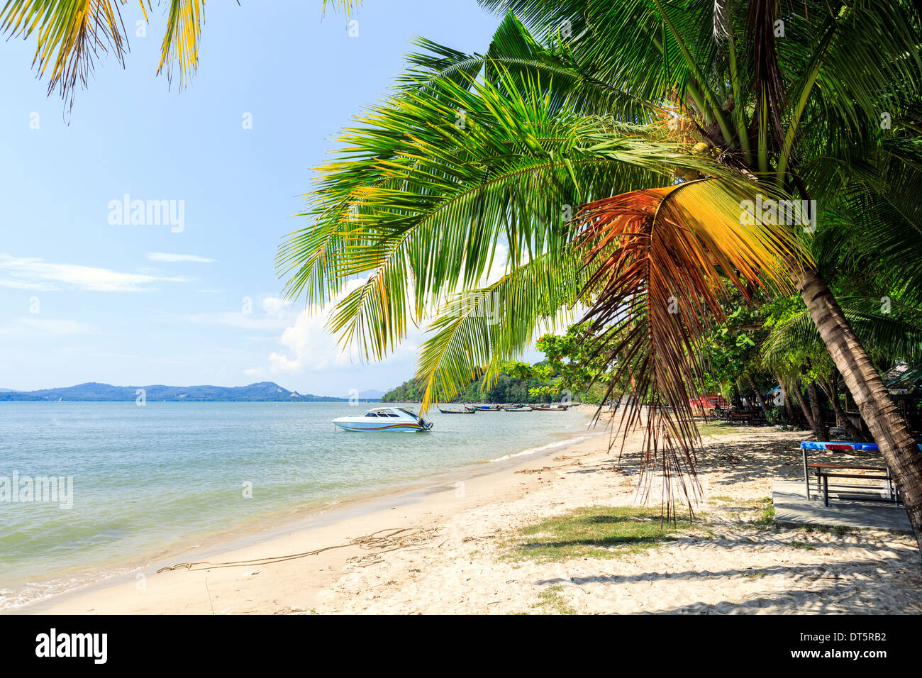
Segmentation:
<svg viewBox="0 0 922 678">
<path fill-rule="evenodd" d="M 922 454 L 916 441 L 826 281 L 815 269 L 808 268 L 797 275 L 795 283 L 833 363 L 900 486 L 909 522 L 922 551 Z"/>
</svg>

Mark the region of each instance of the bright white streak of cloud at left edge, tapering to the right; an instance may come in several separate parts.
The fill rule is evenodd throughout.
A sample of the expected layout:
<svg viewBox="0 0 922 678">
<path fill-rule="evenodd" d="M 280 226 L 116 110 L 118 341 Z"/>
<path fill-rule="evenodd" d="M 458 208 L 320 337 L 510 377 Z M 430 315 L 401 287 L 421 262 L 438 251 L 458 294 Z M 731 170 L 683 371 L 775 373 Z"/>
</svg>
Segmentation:
<svg viewBox="0 0 922 678">
<path fill-rule="evenodd" d="M 158 282 L 184 278 L 123 273 L 109 268 L 53 264 L 43 259 L 0 255 L 0 286 L 21 290 L 152 291 Z"/>
</svg>

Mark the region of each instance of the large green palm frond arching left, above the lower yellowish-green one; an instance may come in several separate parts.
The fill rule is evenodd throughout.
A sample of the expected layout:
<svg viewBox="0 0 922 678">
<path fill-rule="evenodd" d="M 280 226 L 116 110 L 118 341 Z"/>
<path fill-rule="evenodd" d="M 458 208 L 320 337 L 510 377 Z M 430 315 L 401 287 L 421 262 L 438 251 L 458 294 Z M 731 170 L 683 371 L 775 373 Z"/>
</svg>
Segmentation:
<svg viewBox="0 0 922 678">
<path fill-rule="evenodd" d="M 726 172 L 662 127 L 580 116 L 517 80 L 448 80 L 438 99 L 401 92 L 375 109 L 375 126 L 348 130 L 346 160 L 321 168 L 304 215 L 314 225 L 280 250 L 286 292 L 319 305 L 367 275 L 330 328 L 380 358 L 446 292 L 472 289 L 497 244 L 514 268 L 561 252 L 573 237 L 566 206 L 670 184 L 676 167 Z"/>
</svg>

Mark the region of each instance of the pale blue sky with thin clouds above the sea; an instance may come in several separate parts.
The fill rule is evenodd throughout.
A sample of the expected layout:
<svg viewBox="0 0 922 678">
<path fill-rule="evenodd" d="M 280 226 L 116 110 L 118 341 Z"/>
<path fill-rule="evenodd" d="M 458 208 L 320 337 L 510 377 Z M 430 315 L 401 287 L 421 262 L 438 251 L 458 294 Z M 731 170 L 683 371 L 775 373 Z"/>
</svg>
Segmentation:
<svg viewBox="0 0 922 678">
<path fill-rule="evenodd" d="M 179 92 L 154 77 L 163 6 L 137 37 L 129 3 L 125 68 L 100 58 L 69 125 L 30 67 L 34 41 L 0 45 L 0 387 L 270 380 L 346 395 L 412 375 L 419 334 L 363 364 L 322 317 L 280 303 L 276 251 L 304 225 L 290 215 L 330 138 L 383 97 L 408 42 L 483 50 L 500 18 L 475 0 L 371 0 L 349 37 L 320 5 L 209 3 L 198 72 Z M 118 223 L 125 195 L 172 201 L 175 225 Z"/>
</svg>

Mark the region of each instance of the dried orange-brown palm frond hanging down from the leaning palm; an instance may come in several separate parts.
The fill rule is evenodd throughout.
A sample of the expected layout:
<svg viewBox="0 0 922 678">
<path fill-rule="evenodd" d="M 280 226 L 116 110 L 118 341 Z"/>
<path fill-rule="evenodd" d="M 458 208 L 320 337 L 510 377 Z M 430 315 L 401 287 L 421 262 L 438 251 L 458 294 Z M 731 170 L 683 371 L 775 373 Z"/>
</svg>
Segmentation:
<svg viewBox="0 0 922 678">
<path fill-rule="evenodd" d="M 689 400 L 703 383 L 698 342 L 724 318 L 725 281 L 749 300 L 757 287 L 789 289 L 786 262 L 808 260 L 788 227 L 741 219 L 747 193 L 705 179 L 598 200 L 576 218 L 595 271 L 587 285 L 595 303 L 582 322 L 614 374 L 605 399 L 630 382 L 621 446 L 645 426 L 644 470 L 661 471 L 668 517 L 676 489 L 690 509 L 698 493 L 701 438 Z M 644 498 L 652 482 L 646 472 Z"/>
</svg>

